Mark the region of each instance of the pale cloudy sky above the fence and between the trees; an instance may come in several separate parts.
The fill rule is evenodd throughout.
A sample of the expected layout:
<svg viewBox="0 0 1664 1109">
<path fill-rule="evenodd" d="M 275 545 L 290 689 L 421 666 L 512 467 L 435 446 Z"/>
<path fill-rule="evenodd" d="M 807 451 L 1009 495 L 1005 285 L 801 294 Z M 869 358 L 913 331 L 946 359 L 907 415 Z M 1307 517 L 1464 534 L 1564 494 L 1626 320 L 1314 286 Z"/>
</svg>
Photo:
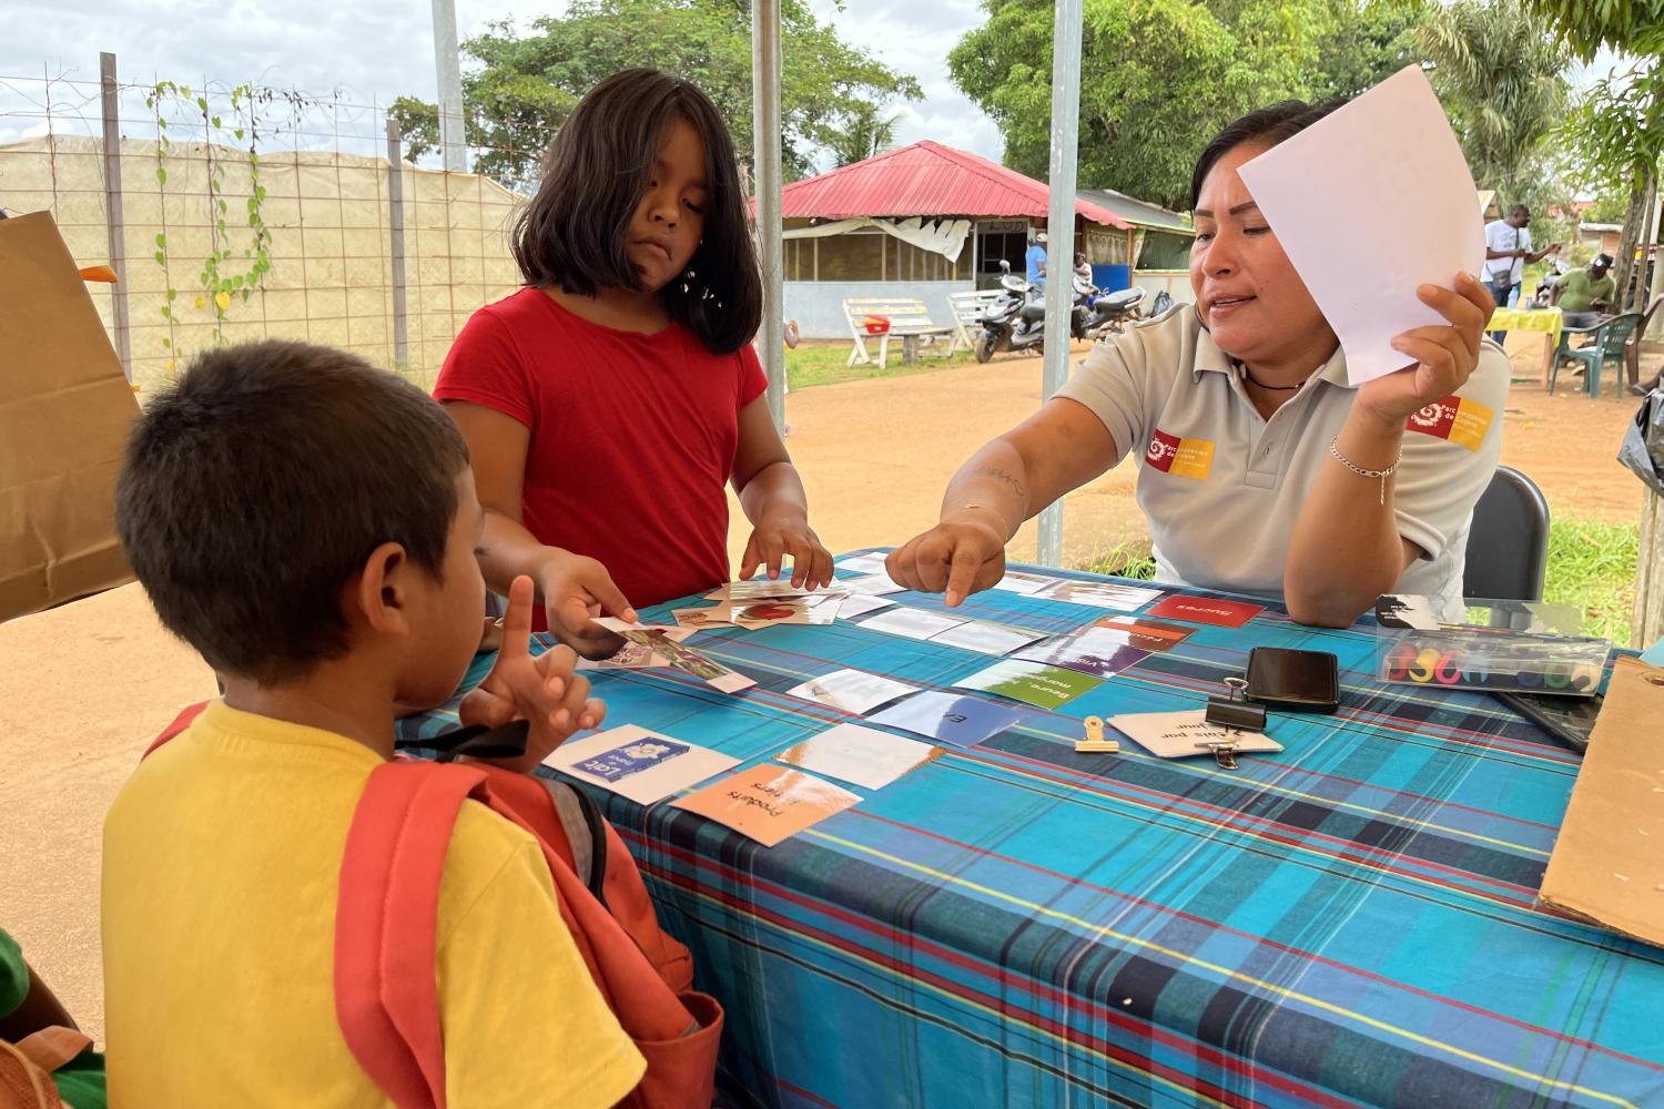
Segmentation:
<svg viewBox="0 0 1664 1109">
<path fill-rule="evenodd" d="M 947 75 L 947 52 L 980 22 L 977 0 L 810 0 L 847 42 L 912 73 L 924 100 L 900 108 L 897 138 L 935 138 L 988 158 L 1000 136 Z M 433 23 L 428 0 L 8 0 L 0 37 L 0 143 L 40 133 L 28 118 L 45 73 L 88 81 L 60 85 L 72 105 L 97 93 L 98 52 L 116 55 L 123 81 L 156 76 L 181 85 L 205 76 L 313 95 L 343 91 L 356 103 L 413 93 L 434 98 Z M 461 38 L 499 18 L 529 20 L 561 0 L 456 0 Z M 97 126 L 97 103 L 82 110 Z"/>
</svg>

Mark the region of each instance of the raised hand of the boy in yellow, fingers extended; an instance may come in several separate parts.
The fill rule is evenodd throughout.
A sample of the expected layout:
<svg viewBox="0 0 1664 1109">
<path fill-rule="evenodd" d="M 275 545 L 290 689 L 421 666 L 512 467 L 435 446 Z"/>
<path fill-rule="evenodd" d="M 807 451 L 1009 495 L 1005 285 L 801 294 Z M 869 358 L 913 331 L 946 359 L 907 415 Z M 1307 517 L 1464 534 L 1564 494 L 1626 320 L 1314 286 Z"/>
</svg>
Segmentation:
<svg viewBox="0 0 1664 1109">
<path fill-rule="evenodd" d="M 589 697 L 589 678 L 572 673 L 577 655 L 571 647 L 556 647 L 532 658 L 532 604 L 531 579 L 516 577 L 509 587 L 509 610 L 503 617 L 498 660 L 458 708 L 464 727 L 496 728 L 521 718 L 531 723 L 526 755 L 499 763 L 521 773 L 537 766 L 572 732 L 596 728 L 607 715 L 607 707 Z"/>
</svg>

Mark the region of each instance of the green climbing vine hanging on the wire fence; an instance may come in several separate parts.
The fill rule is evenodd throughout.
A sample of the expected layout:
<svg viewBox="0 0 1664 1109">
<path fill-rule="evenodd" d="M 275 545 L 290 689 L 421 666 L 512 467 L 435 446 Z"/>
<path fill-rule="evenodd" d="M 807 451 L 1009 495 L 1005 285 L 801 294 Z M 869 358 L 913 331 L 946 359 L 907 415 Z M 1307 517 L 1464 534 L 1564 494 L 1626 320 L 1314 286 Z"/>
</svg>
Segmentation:
<svg viewBox="0 0 1664 1109">
<path fill-rule="evenodd" d="M 220 93 L 215 93 L 216 100 L 218 96 Z M 208 165 L 208 203 L 213 219 L 210 224 L 210 251 L 201 259 L 201 271 L 196 274 L 196 283 L 201 288 L 196 306 L 213 308 L 215 344 L 225 339 L 223 328 L 226 319 L 230 319 L 231 304 L 236 299 L 246 303 L 271 269 L 271 233 L 266 229 L 266 221 L 261 214 L 266 201 L 266 188 L 260 183 L 258 141 L 263 123 L 261 108 L 271 103 L 273 93 L 271 90 L 256 90 L 251 85 L 238 85 L 226 96 L 230 100 L 228 116 L 216 113 L 208 90 L 191 91 L 188 85 L 176 85 L 175 81 L 156 81 L 155 88 L 145 96 L 145 103 L 156 120 L 156 185 L 163 190 L 168 185 L 168 163 L 176 158 L 166 105 L 170 101 L 193 105 L 201 116 L 203 151 Z M 238 209 L 235 218 L 231 214 L 231 201 L 226 196 L 226 158 L 223 156 L 223 150 L 233 145 L 238 148 L 246 145 L 248 148 L 246 213 L 245 209 Z M 245 214 L 246 238 L 243 238 Z M 235 234 L 233 223 L 236 224 Z M 156 234 L 155 258 L 163 274 L 168 274 L 168 263 L 173 256 L 170 253 L 165 201 L 161 224 L 161 231 Z M 168 338 L 161 344 L 168 351 L 170 369 L 173 367 L 173 356 L 178 354 L 175 333 L 175 324 L 180 323 L 175 311 L 178 296 L 180 291 L 173 288 L 170 279 L 165 293 L 166 299 L 161 304 L 161 318 L 168 321 Z"/>
</svg>

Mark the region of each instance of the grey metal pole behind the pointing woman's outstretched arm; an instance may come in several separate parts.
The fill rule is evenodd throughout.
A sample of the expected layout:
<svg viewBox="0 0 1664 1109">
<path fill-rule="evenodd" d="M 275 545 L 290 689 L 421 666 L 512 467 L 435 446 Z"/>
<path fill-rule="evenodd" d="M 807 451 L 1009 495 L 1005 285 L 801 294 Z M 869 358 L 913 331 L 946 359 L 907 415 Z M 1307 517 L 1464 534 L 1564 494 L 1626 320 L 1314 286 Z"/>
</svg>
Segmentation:
<svg viewBox="0 0 1664 1109">
<path fill-rule="evenodd" d="M 1052 206 L 1047 214 L 1045 377 L 1040 402 L 1068 381 L 1068 313 L 1075 274 L 1075 160 L 1080 141 L 1082 0 L 1057 0 L 1052 25 Z M 1063 565 L 1063 499 L 1040 514 L 1040 565 Z"/>
</svg>

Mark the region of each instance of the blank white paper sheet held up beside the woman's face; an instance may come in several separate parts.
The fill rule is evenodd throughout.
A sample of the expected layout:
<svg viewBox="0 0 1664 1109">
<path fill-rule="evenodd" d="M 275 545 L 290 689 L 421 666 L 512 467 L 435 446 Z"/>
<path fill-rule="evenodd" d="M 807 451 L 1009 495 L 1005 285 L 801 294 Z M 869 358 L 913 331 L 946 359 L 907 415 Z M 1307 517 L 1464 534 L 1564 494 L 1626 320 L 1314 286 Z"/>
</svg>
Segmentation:
<svg viewBox="0 0 1664 1109">
<path fill-rule="evenodd" d="M 1419 67 L 1248 161 L 1241 178 L 1340 336 L 1354 386 L 1411 364 L 1393 336 L 1448 323 L 1418 284 L 1448 289 L 1484 264 L 1473 175 Z"/>
</svg>

